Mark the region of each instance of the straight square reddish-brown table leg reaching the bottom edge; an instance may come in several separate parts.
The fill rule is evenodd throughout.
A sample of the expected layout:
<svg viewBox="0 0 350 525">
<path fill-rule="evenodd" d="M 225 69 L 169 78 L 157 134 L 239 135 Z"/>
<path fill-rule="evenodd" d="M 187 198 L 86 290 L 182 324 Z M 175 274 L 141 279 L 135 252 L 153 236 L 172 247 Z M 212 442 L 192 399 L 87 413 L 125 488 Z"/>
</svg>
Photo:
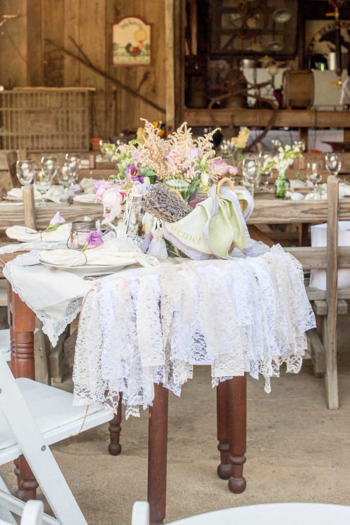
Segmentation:
<svg viewBox="0 0 350 525">
<path fill-rule="evenodd" d="M 151 525 L 165 519 L 166 463 L 168 442 L 168 394 L 162 384 L 154 384 L 153 406 L 149 408 L 149 473 L 147 500 Z"/>
</svg>

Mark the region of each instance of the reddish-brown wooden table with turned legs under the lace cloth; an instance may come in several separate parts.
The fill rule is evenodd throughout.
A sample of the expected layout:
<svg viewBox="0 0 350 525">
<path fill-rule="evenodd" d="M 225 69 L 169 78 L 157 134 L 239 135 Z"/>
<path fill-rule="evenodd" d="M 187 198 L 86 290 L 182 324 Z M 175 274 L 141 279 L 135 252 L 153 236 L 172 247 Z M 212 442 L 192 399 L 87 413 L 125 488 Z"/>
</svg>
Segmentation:
<svg viewBox="0 0 350 525">
<path fill-rule="evenodd" d="M 3 254 L 0 267 L 24 252 Z M 15 377 L 35 379 L 34 330 L 35 314 L 7 282 L 8 324 L 10 328 L 11 368 Z M 166 514 L 166 470 L 167 470 L 167 422 L 168 389 L 154 384 L 153 406 L 149 407 L 149 457 L 147 500 L 150 503 L 152 525 L 164 523 Z M 122 405 L 110 422 L 111 455 L 121 453 Z M 217 439 L 220 464 L 217 474 L 228 480 L 231 492 L 241 493 L 246 489 L 243 465 L 246 462 L 247 434 L 247 374 L 233 377 L 217 387 Z M 17 497 L 28 501 L 36 498 L 38 483 L 24 456 L 15 462 Z"/>
</svg>

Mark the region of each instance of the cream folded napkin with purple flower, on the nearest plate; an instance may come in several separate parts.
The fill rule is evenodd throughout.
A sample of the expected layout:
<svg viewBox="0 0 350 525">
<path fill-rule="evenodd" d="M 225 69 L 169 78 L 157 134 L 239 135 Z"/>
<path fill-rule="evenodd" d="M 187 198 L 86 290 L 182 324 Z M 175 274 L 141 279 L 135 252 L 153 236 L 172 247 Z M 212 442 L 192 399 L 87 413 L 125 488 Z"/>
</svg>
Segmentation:
<svg viewBox="0 0 350 525">
<path fill-rule="evenodd" d="M 56 266 L 126 266 L 137 263 L 141 266 L 155 266 L 160 264 L 158 259 L 142 253 L 126 237 L 108 240 L 97 248 L 90 248 L 86 251 L 44 250 L 40 251 L 39 258 L 43 262 Z"/>
</svg>

